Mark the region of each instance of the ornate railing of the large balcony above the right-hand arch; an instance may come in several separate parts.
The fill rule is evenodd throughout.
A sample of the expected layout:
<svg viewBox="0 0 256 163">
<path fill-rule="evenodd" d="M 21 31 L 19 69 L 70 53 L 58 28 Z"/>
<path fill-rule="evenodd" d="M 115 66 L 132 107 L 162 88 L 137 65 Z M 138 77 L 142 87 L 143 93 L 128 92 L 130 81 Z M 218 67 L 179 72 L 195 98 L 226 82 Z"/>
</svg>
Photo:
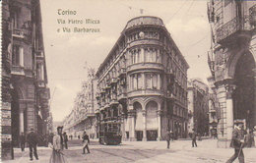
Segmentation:
<svg viewBox="0 0 256 163">
<path fill-rule="evenodd" d="M 219 27 L 216 30 L 216 38 L 217 42 L 220 43 L 225 38 L 240 30 L 250 30 L 251 27 L 249 25 L 249 17 L 244 16 L 242 19 L 238 17 L 232 19 L 231 21 L 224 24 L 224 26 Z"/>
</svg>

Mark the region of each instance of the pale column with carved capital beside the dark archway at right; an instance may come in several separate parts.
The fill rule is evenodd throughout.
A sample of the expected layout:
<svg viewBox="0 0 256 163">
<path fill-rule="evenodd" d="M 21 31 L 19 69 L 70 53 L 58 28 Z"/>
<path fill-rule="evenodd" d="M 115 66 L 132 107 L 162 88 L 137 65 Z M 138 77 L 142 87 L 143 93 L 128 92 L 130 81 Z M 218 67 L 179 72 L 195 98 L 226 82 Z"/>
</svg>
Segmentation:
<svg viewBox="0 0 256 163">
<path fill-rule="evenodd" d="M 227 140 L 231 140 L 232 131 L 233 131 L 233 100 L 232 100 L 232 92 L 234 89 L 234 84 L 226 84 L 225 90 L 225 102 L 226 102 L 226 138 Z"/>
</svg>

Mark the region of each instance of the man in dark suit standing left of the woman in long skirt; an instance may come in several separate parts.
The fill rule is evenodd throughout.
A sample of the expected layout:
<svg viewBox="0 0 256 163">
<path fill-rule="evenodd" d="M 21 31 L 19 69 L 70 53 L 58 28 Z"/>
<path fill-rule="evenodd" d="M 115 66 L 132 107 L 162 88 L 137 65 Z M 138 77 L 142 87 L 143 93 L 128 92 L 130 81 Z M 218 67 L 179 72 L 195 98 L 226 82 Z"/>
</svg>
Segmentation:
<svg viewBox="0 0 256 163">
<path fill-rule="evenodd" d="M 38 155 L 37 155 L 37 149 L 36 145 L 38 143 L 38 137 L 35 133 L 33 133 L 33 129 L 31 128 L 31 133 L 27 136 L 27 141 L 29 143 L 30 147 L 30 157 L 32 161 L 32 152 L 36 160 L 38 160 Z"/>
</svg>

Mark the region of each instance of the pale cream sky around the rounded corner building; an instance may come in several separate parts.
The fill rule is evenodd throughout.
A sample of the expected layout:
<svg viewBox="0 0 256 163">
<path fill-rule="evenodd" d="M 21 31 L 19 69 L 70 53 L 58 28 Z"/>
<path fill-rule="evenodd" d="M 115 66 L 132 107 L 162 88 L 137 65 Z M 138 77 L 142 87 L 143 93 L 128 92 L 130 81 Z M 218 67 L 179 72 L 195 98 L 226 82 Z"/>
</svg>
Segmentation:
<svg viewBox="0 0 256 163">
<path fill-rule="evenodd" d="M 199 78 L 207 83 L 211 76 L 207 63 L 211 45 L 207 0 L 41 0 L 40 3 L 54 121 L 64 120 L 71 112 L 76 94 L 87 79 L 86 68 L 97 70 L 127 22 L 135 17 L 162 19 L 189 64 L 188 79 Z M 76 15 L 59 15 L 58 11 L 76 11 Z M 59 19 L 66 23 L 58 23 Z M 98 20 L 99 24 L 67 22 L 86 19 Z M 63 27 L 99 28 L 99 32 L 64 32 Z"/>
</svg>

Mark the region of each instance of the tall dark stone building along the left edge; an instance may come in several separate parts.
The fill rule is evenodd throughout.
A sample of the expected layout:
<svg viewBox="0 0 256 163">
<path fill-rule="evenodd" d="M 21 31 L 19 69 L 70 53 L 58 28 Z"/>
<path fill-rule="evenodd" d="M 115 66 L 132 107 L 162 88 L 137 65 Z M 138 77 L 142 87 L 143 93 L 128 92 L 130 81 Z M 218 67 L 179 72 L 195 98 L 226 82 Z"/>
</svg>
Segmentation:
<svg viewBox="0 0 256 163">
<path fill-rule="evenodd" d="M 31 128 L 48 134 L 50 93 L 39 1 L 4 0 L 3 9 L 3 62 L 8 63 L 12 140 L 18 145 L 20 134 Z"/>
</svg>

